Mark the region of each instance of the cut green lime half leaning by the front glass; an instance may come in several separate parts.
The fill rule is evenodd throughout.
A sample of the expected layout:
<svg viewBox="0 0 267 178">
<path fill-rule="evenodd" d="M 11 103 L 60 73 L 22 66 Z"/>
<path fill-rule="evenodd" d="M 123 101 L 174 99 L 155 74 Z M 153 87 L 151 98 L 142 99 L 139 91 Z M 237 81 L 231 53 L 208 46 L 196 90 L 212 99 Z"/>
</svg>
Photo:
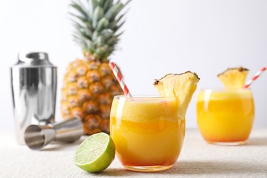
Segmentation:
<svg viewBox="0 0 267 178">
<path fill-rule="evenodd" d="M 78 147 L 74 163 L 90 173 L 105 170 L 115 157 L 115 144 L 107 133 L 89 136 Z"/>
</svg>

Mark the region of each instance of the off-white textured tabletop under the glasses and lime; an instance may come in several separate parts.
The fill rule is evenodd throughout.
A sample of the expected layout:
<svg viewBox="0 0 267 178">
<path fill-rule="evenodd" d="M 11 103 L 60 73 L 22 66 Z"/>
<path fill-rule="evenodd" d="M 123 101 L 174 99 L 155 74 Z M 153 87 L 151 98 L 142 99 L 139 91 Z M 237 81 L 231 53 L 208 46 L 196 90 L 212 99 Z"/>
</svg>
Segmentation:
<svg viewBox="0 0 267 178">
<path fill-rule="evenodd" d="M 267 129 L 254 129 L 249 142 L 237 147 L 207 144 L 198 130 L 188 129 L 177 163 L 159 173 L 125 170 L 116 159 L 102 173 L 86 173 L 73 164 L 84 138 L 31 151 L 18 146 L 12 132 L 0 131 L 0 177 L 267 177 Z"/>
</svg>

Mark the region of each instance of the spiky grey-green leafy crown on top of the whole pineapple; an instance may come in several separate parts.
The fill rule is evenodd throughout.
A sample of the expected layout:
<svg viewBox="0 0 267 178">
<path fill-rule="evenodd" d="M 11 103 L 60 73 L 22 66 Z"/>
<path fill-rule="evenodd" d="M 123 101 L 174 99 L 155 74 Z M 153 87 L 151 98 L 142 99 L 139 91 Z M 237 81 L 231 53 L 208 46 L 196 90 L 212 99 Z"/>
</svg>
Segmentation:
<svg viewBox="0 0 267 178">
<path fill-rule="evenodd" d="M 73 38 L 84 53 L 92 54 L 92 58 L 107 60 L 123 34 L 118 31 L 125 23 L 122 12 L 131 0 L 72 0 L 71 13 L 75 33 Z"/>
</svg>

